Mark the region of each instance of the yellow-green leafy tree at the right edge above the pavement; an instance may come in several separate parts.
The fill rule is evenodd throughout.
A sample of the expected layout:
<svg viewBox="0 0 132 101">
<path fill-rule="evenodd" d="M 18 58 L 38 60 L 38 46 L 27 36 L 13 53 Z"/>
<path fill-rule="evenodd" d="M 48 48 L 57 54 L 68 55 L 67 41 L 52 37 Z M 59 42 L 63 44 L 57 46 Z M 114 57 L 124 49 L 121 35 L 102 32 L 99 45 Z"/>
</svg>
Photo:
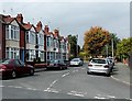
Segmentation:
<svg viewBox="0 0 132 101">
<path fill-rule="evenodd" d="M 128 58 L 132 54 L 132 37 L 123 38 L 117 45 L 117 56 Z"/>
</svg>

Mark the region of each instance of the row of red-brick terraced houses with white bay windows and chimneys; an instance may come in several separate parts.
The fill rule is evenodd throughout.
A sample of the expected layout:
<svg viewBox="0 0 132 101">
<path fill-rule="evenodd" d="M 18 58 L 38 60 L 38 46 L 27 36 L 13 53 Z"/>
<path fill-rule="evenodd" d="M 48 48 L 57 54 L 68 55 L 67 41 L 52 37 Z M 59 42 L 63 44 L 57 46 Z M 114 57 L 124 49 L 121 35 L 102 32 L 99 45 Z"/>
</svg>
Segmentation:
<svg viewBox="0 0 132 101">
<path fill-rule="evenodd" d="M 61 36 L 58 30 L 51 32 L 48 25 L 43 29 L 41 21 L 36 26 L 25 23 L 22 14 L 15 18 L 0 14 L 0 59 L 68 60 L 68 40 Z"/>
</svg>

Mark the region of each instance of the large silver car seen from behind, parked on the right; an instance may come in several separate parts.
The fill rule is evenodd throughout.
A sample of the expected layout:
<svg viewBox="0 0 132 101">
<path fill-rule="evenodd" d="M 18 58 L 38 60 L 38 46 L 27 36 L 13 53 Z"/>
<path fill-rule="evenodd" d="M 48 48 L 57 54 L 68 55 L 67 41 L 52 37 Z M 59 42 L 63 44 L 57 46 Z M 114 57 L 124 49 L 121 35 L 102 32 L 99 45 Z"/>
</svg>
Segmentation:
<svg viewBox="0 0 132 101">
<path fill-rule="evenodd" d="M 112 67 L 107 58 L 92 58 L 88 64 L 87 74 L 103 72 L 110 76 L 111 69 Z"/>
</svg>

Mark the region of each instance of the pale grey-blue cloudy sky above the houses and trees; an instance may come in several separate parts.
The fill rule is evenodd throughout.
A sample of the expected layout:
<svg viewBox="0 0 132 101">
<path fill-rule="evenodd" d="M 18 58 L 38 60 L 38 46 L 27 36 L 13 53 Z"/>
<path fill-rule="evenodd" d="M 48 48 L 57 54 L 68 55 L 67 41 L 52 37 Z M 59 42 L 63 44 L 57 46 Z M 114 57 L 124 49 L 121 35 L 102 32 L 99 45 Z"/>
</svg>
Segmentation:
<svg viewBox="0 0 132 101">
<path fill-rule="evenodd" d="M 62 36 L 78 35 L 78 44 L 84 45 L 84 33 L 91 26 L 114 33 L 119 38 L 130 37 L 129 0 L 1 0 L 0 13 L 16 16 L 22 13 L 24 22 L 34 25 L 38 21 L 58 29 Z"/>
</svg>

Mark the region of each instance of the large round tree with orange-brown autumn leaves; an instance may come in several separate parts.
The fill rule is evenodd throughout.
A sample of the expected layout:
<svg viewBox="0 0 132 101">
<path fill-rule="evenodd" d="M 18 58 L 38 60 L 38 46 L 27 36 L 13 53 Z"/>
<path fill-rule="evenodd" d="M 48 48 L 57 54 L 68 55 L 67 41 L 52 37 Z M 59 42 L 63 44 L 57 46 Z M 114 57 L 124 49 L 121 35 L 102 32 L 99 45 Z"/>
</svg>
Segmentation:
<svg viewBox="0 0 132 101">
<path fill-rule="evenodd" d="M 91 27 L 85 33 L 84 49 L 91 56 L 98 56 L 106 44 L 110 42 L 110 33 L 100 26 Z"/>
</svg>

